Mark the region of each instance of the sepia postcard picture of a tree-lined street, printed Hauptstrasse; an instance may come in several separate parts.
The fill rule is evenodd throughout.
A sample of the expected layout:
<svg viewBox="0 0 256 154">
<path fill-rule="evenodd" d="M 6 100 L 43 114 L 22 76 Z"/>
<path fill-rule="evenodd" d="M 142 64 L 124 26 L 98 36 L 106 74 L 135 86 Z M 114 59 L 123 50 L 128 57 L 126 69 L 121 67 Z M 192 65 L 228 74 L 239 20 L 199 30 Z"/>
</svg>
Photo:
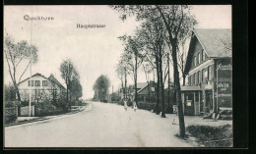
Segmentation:
<svg viewBox="0 0 256 154">
<path fill-rule="evenodd" d="M 233 147 L 231 5 L 5 5 L 4 148 Z"/>
</svg>

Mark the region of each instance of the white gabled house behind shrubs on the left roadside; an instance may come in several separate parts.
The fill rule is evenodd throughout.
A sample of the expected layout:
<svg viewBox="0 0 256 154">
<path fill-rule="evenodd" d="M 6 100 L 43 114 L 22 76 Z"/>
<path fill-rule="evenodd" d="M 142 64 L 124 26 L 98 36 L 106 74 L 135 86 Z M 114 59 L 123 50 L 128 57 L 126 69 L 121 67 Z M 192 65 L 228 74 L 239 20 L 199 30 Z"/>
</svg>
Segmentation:
<svg viewBox="0 0 256 154">
<path fill-rule="evenodd" d="M 66 88 L 53 75 L 44 77 L 38 73 L 21 81 L 18 88 L 22 101 L 30 100 L 32 90 L 32 102 L 41 102 L 43 99 L 57 100 L 66 92 Z"/>
</svg>

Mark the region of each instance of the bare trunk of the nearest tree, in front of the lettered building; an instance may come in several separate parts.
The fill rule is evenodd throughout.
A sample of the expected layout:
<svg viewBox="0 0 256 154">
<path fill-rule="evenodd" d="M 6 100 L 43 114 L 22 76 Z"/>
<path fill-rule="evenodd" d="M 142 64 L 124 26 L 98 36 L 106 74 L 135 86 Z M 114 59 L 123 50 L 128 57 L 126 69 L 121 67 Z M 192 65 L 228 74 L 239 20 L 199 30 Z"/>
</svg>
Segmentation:
<svg viewBox="0 0 256 154">
<path fill-rule="evenodd" d="M 175 91 L 176 91 L 176 100 L 178 106 L 178 119 L 179 119 L 179 136 L 181 138 L 185 137 L 185 121 L 183 115 L 183 106 L 181 101 L 181 92 L 180 92 L 180 82 L 179 82 L 179 72 L 177 66 L 177 55 L 176 55 L 176 43 L 172 42 L 172 59 L 173 59 L 173 68 L 174 68 L 174 80 L 175 80 Z"/>
</svg>

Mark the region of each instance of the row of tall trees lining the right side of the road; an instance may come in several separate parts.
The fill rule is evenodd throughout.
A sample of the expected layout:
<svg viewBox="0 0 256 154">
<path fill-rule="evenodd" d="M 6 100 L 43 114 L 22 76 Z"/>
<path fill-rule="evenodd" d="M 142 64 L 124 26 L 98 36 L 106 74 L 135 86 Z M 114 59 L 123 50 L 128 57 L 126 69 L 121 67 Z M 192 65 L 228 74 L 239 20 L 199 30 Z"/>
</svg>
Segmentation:
<svg viewBox="0 0 256 154">
<path fill-rule="evenodd" d="M 164 82 L 168 77 L 169 89 L 169 63 L 173 69 L 174 95 L 173 100 L 178 106 L 179 134 L 185 136 L 185 124 L 180 93 L 180 75 L 185 84 L 184 62 L 186 59 L 185 42 L 197 22 L 190 14 L 191 6 L 187 5 L 115 5 L 110 8 L 120 13 L 120 18 L 135 16 L 141 26 L 137 28 L 134 36 L 119 37 L 124 42 L 124 52 L 116 67 L 118 77 L 126 87 L 127 75 L 132 75 L 135 89 L 137 87 L 137 71 L 141 64 L 148 66 L 145 73 L 157 73 L 156 109 L 161 111 L 164 118 Z M 171 55 L 171 59 L 169 58 Z M 150 67 L 149 67 L 150 66 Z M 149 69 L 151 68 L 151 69 Z M 124 78 L 124 81 L 123 81 Z M 124 89 L 125 89 L 124 87 Z M 169 93 L 169 90 L 168 90 Z M 137 102 L 137 91 L 135 91 Z M 161 103 L 161 110 L 159 104 Z"/>
</svg>

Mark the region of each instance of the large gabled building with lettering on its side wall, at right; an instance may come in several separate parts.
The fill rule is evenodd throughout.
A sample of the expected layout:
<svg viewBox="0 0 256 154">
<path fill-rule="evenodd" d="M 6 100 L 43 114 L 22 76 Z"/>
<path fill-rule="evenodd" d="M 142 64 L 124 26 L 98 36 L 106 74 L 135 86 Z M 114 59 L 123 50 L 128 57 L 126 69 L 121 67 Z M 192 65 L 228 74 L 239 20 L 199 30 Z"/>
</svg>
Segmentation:
<svg viewBox="0 0 256 154">
<path fill-rule="evenodd" d="M 185 65 L 188 83 L 181 86 L 184 115 L 232 109 L 230 29 L 195 29 Z"/>
</svg>

